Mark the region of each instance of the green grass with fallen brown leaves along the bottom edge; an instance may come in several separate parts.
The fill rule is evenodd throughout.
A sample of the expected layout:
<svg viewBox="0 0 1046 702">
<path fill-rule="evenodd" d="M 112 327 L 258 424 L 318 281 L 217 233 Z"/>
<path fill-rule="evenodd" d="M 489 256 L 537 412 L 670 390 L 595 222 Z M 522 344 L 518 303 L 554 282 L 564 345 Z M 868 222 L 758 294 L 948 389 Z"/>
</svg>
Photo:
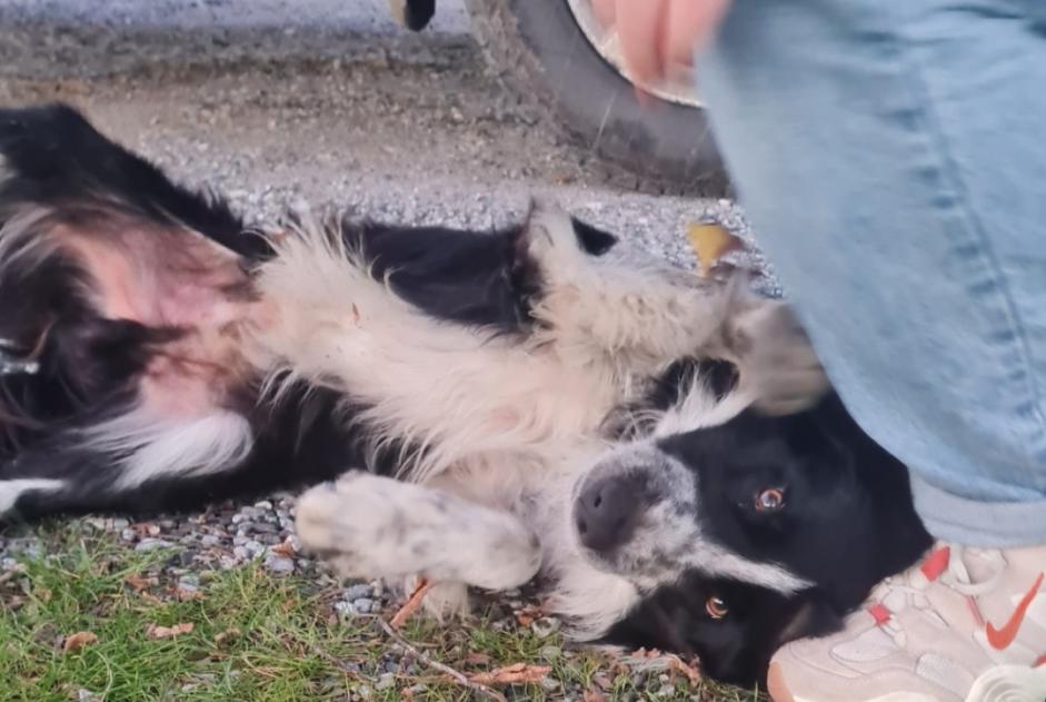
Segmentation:
<svg viewBox="0 0 1046 702">
<path fill-rule="evenodd" d="M 77 523 L 46 528 L 42 541 L 44 552 L 19 556 L 20 572 L 0 576 L 4 701 L 479 699 L 411 655 L 400 660 L 373 617 L 339 617 L 336 593 L 318 590 L 315 579 L 272 575 L 255 563 L 201 573 L 198 594 L 186 596 L 163 575 L 170 553 L 137 553 Z M 516 663 L 551 668 L 544 684 L 497 685 L 510 700 L 758 699 L 565 650 L 555 634 L 506 624 L 498 607 L 490 604 L 467 625 L 415 614 L 400 635 L 466 675 Z M 179 624 L 191 632 L 148 634 L 150 626 Z M 97 641 L 69 647 L 77 632 Z"/>
</svg>

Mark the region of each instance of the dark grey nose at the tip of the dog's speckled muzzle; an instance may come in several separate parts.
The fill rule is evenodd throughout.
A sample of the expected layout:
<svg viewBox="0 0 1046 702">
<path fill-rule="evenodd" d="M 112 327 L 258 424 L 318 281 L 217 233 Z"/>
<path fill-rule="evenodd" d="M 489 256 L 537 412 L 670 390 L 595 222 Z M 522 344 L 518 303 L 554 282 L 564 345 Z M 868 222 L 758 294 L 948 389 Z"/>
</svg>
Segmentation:
<svg viewBox="0 0 1046 702">
<path fill-rule="evenodd" d="M 631 536 L 642 504 L 642 484 L 635 477 L 614 477 L 587 485 L 574 507 L 581 544 L 611 551 Z"/>
</svg>

